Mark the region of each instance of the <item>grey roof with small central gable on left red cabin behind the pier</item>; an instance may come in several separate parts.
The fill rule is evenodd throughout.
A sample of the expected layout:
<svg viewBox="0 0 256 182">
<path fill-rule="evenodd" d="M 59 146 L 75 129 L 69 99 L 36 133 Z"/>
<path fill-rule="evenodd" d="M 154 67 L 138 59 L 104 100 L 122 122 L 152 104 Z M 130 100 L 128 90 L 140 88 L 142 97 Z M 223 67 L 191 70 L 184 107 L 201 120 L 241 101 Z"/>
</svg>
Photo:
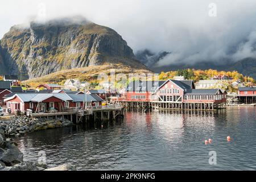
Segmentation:
<svg viewBox="0 0 256 182">
<path fill-rule="evenodd" d="M 63 101 L 72 101 L 72 98 L 65 93 L 39 93 L 39 94 L 36 94 L 36 96 L 33 97 L 31 101 L 42 102 L 44 100 L 47 100 L 47 98 L 50 98 L 50 97 L 56 97 Z"/>
</svg>

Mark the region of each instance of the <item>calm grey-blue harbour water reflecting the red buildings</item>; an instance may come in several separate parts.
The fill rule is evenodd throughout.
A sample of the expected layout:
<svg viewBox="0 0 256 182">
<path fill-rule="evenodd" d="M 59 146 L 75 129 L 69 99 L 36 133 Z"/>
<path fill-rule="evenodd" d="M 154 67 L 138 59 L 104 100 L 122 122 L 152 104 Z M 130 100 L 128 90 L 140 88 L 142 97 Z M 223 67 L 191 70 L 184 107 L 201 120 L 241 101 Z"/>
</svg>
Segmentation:
<svg viewBox="0 0 256 182">
<path fill-rule="evenodd" d="M 256 108 L 222 113 L 126 113 L 103 129 L 74 126 L 16 138 L 24 160 L 46 151 L 47 164 L 75 164 L 80 170 L 256 169 Z M 232 137 L 231 142 L 226 137 Z M 204 140 L 211 138 L 212 144 Z M 217 152 L 210 165 L 209 151 Z"/>
</svg>

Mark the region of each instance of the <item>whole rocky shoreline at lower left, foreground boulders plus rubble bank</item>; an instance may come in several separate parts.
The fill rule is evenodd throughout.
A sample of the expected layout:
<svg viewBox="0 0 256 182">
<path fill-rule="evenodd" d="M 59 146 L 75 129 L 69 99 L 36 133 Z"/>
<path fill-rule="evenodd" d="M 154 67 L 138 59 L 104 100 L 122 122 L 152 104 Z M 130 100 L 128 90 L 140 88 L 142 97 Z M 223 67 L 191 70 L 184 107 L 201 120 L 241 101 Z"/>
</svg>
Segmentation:
<svg viewBox="0 0 256 182">
<path fill-rule="evenodd" d="M 0 121 L 0 171 L 76 171 L 76 167 L 63 164 L 54 168 L 47 168 L 38 162 L 24 162 L 23 154 L 13 139 L 33 131 L 71 126 L 73 123 L 64 118 L 28 118 L 12 117 Z"/>
</svg>

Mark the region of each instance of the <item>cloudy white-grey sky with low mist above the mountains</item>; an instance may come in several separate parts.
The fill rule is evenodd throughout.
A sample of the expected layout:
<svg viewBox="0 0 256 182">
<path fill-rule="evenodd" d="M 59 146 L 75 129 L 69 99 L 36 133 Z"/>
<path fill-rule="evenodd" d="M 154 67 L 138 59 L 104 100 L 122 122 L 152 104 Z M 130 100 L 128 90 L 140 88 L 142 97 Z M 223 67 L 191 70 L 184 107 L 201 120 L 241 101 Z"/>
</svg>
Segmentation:
<svg viewBox="0 0 256 182">
<path fill-rule="evenodd" d="M 113 28 L 134 52 L 172 52 L 159 61 L 161 66 L 255 56 L 255 0 L 1 1 L 0 37 L 14 24 L 42 18 L 43 12 L 46 19 L 83 15 Z"/>
</svg>

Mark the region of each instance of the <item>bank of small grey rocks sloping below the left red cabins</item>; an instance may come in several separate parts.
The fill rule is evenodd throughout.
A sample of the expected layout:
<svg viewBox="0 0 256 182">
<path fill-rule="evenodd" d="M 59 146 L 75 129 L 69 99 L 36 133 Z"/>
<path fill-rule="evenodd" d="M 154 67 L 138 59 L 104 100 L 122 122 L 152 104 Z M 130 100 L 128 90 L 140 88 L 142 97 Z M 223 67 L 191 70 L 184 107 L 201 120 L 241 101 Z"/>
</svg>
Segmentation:
<svg viewBox="0 0 256 182">
<path fill-rule="evenodd" d="M 6 136 L 19 137 L 33 131 L 54 129 L 58 127 L 72 126 L 73 123 L 65 118 L 28 118 L 16 116 L 0 121 L 0 128 Z"/>
</svg>

